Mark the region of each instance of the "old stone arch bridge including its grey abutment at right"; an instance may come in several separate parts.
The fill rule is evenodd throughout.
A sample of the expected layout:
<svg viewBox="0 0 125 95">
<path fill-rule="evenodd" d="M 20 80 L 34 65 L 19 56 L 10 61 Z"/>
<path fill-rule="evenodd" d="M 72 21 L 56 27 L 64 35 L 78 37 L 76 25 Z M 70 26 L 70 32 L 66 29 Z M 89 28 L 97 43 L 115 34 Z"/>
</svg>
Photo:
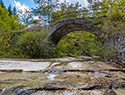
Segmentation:
<svg viewBox="0 0 125 95">
<path fill-rule="evenodd" d="M 89 18 L 93 19 L 93 18 Z M 67 19 L 62 20 L 57 23 L 47 25 L 42 27 L 48 33 L 48 38 L 56 45 L 58 44 L 59 40 L 65 36 L 66 34 L 73 32 L 73 31 L 88 31 L 93 33 L 98 38 L 101 36 L 102 32 L 100 29 L 94 28 L 94 22 L 87 20 L 86 18 L 76 18 L 76 19 Z M 40 28 L 36 27 L 35 31 L 41 30 Z M 34 31 L 32 29 L 26 29 L 26 31 Z M 105 41 L 104 39 L 101 39 Z M 110 46 L 113 45 L 115 50 L 118 53 L 118 59 L 122 60 L 122 63 L 125 63 L 125 35 L 119 36 L 118 40 L 116 39 L 115 43 L 112 39 L 108 39 L 107 42 Z"/>
</svg>

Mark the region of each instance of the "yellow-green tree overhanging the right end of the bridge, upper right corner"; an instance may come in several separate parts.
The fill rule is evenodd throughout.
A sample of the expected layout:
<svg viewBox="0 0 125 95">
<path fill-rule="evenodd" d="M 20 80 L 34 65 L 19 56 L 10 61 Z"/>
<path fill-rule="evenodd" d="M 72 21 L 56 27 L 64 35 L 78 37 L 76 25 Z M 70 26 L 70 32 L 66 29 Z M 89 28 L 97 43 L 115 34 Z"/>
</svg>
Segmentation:
<svg viewBox="0 0 125 95">
<path fill-rule="evenodd" d="M 93 22 L 96 23 L 96 27 L 101 28 L 103 32 L 108 34 L 115 33 L 113 32 L 114 31 L 113 29 L 116 29 L 117 26 L 119 27 L 119 25 L 123 23 L 123 20 L 125 19 L 125 10 L 124 10 L 125 1 L 88 0 L 88 2 L 89 2 L 89 9 L 91 12 L 93 12 L 92 16 L 95 17 L 95 19 L 93 19 L 94 20 Z"/>
</svg>

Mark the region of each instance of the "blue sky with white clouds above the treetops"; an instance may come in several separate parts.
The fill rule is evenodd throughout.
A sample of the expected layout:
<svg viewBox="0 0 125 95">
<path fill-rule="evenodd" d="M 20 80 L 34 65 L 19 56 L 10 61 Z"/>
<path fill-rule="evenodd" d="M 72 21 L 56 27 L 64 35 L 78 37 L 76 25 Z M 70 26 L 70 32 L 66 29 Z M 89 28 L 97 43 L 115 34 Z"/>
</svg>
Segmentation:
<svg viewBox="0 0 125 95">
<path fill-rule="evenodd" d="M 60 0 L 60 2 L 63 2 L 64 0 Z M 87 6 L 86 0 L 65 0 L 70 3 L 76 3 L 79 2 L 82 6 Z M 16 7 L 17 10 L 24 10 L 24 9 L 31 9 L 35 8 L 36 4 L 33 2 L 33 0 L 3 0 L 6 7 L 11 5 L 12 7 Z"/>
</svg>

